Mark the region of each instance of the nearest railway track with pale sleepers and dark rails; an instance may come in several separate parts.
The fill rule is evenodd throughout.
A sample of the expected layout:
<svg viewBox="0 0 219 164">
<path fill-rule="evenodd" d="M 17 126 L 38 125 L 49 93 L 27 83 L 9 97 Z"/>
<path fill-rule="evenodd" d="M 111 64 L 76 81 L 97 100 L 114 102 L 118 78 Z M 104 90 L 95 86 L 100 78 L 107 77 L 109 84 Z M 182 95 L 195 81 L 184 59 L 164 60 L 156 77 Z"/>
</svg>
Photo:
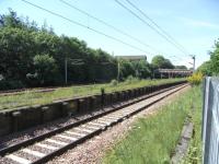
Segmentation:
<svg viewBox="0 0 219 164">
<path fill-rule="evenodd" d="M 151 95 L 136 98 L 130 105 L 114 108 L 87 120 L 61 127 L 45 134 L 0 150 L 0 163 L 39 164 L 51 160 L 66 150 L 99 134 L 115 124 L 146 109 L 164 97 L 182 90 L 187 84 L 161 90 Z M 147 101 L 146 101 L 147 99 Z"/>
</svg>

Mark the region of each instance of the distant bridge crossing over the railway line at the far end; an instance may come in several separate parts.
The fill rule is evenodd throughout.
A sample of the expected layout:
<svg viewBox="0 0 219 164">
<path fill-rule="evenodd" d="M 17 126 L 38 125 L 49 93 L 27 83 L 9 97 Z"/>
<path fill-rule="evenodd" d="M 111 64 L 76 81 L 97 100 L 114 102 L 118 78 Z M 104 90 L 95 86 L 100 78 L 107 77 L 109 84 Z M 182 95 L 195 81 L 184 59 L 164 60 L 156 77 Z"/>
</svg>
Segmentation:
<svg viewBox="0 0 219 164">
<path fill-rule="evenodd" d="M 154 78 L 176 78 L 176 77 L 189 77 L 193 74 L 193 70 L 185 69 L 158 69 L 153 72 Z"/>
</svg>

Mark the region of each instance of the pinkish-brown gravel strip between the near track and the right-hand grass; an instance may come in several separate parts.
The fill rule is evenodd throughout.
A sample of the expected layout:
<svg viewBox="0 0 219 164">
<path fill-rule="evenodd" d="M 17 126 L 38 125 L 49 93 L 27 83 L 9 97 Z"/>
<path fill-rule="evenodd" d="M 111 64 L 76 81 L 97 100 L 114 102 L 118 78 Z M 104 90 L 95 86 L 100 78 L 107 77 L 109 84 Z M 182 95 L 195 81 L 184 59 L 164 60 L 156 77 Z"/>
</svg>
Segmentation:
<svg viewBox="0 0 219 164">
<path fill-rule="evenodd" d="M 47 164 L 100 164 L 104 152 L 110 150 L 116 141 L 123 139 L 127 131 L 131 129 L 134 121 L 139 117 L 152 115 L 160 109 L 161 106 L 174 101 L 180 94 L 183 94 L 189 86 L 168 96 L 159 103 L 150 106 L 147 110 L 124 120 L 123 122 L 108 128 L 97 137 L 87 140 L 84 143 L 69 150 L 60 156 L 55 157 Z"/>
</svg>

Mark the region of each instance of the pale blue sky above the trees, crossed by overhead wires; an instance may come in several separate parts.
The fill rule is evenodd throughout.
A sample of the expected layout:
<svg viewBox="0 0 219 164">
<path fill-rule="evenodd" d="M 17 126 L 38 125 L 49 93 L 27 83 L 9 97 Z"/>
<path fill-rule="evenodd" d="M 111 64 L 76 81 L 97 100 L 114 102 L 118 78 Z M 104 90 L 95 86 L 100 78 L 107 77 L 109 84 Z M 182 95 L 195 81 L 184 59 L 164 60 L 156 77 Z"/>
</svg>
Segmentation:
<svg viewBox="0 0 219 164">
<path fill-rule="evenodd" d="M 113 28 L 80 13 L 60 0 L 26 0 L 56 12 L 71 21 L 113 36 L 129 46 L 100 35 L 88 27 L 82 27 L 56 15 L 28 5 L 21 0 L 0 0 L 0 14 L 7 14 L 9 8 L 20 16 L 28 16 L 42 26 L 45 22 L 53 26 L 57 35 L 78 37 L 89 47 L 101 48 L 114 56 L 146 55 L 150 62 L 155 55 L 163 55 L 174 65 L 192 67 L 189 55 L 196 56 L 196 68 L 209 60 L 209 51 L 219 38 L 218 0 L 130 0 L 163 31 L 174 38 L 185 50 L 182 51 L 150 28 L 147 24 L 122 8 L 115 0 L 65 0 L 78 9 L 103 20 L 122 32 L 134 36 L 139 42 L 127 37 Z M 126 0 L 119 2 L 135 11 L 141 19 L 151 23 L 137 12 Z M 130 46 L 131 45 L 131 46 Z M 147 47 L 150 45 L 153 49 Z M 136 47 L 136 48 L 134 48 Z M 154 50 L 155 49 L 155 50 Z M 186 52 L 185 52 L 186 51 Z"/>
</svg>

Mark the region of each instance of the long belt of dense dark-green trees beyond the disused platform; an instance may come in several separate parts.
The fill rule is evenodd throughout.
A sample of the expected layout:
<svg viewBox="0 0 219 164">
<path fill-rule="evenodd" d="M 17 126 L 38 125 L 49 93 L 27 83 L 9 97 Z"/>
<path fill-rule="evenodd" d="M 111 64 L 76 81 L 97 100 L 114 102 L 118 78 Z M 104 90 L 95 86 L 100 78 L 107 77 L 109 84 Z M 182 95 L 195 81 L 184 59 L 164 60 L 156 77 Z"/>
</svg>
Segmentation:
<svg viewBox="0 0 219 164">
<path fill-rule="evenodd" d="M 110 82 L 118 74 L 118 62 L 122 81 L 129 75 L 151 78 L 154 68 L 173 68 L 162 56 L 154 57 L 152 65 L 146 60 L 118 60 L 77 37 L 56 35 L 46 23 L 38 27 L 12 10 L 0 15 L 0 90 L 64 85 L 66 59 L 69 84 Z"/>
</svg>

